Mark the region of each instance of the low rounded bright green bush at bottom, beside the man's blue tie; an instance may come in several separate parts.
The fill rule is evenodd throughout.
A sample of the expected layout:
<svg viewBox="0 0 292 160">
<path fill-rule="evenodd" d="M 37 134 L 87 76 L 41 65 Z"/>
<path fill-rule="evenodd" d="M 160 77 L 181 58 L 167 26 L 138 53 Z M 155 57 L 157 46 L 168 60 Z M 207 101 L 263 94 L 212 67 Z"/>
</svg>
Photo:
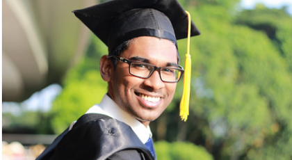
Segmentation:
<svg viewBox="0 0 292 160">
<path fill-rule="evenodd" d="M 154 143 L 156 156 L 159 160 L 211 160 L 213 157 L 206 152 L 204 147 L 199 147 L 193 143 L 175 142 L 168 143 L 159 141 Z"/>
</svg>

